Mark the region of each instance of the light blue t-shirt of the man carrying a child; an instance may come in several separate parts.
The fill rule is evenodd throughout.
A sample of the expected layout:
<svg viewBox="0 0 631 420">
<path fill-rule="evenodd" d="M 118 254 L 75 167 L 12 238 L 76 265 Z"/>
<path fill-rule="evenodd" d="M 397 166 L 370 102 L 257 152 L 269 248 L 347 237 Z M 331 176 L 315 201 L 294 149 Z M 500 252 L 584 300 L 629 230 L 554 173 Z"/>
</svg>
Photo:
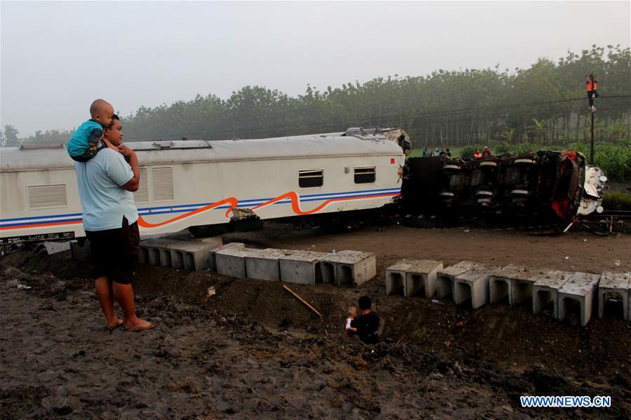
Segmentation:
<svg viewBox="0 0 631 420">
<path fill-rule="evenodd" d="M 133 178 L 133 170 L 118 151 L 102 149 L 86 162 L 74 162 L 79 198 L 83 207 L 84 229 L 119 229 L 126 217 L 138 220 L 133 193 L 122 186 Z"/>
</svg>

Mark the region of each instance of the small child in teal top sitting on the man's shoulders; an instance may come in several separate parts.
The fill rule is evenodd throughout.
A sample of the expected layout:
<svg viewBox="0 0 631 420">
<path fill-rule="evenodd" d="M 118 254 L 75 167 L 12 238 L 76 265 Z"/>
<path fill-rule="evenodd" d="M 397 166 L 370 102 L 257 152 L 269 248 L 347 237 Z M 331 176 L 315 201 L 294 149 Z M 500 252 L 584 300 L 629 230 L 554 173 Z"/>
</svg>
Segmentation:
<svg viewBox="0 0 631 420">
<path fill-rule="evenodd" d="M 90 105 L 91 118 L 82 123 L 68 141 L 66 149 L 70 157 L 77 162 L 85 162 L 105 148 L 102 143 L 103 128 L 112 123 L 114 107 L 102 99 L 95 100 Z"/>
</svg>

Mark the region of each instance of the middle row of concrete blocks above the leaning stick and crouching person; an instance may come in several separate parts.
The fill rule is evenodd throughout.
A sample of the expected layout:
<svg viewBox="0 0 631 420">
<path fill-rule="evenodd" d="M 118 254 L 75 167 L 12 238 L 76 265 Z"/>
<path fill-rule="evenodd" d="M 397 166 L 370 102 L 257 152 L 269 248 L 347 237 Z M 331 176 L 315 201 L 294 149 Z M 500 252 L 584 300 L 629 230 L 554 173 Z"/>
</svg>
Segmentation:
<svg viewBox="0 0 631 420">
<path fill-rule="evenodd" d="M 229 243 L 211 250 L 208 261 L 211 271 L 223 276 L 305 285 L 357 286 L 376 276 L 375 255 L 360 251 L 255 250 L 243 243 Z"/>
</svg>

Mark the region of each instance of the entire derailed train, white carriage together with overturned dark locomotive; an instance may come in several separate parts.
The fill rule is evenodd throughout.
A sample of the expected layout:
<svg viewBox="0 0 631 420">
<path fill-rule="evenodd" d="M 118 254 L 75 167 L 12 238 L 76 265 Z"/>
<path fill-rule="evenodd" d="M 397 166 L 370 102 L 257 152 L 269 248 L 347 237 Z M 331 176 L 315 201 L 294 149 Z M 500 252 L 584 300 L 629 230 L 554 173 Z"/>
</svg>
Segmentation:
<svg viewBox="0 0 631 420">
<path fill-rule="evenodd" d="M 399 128 L 257 140 L 128 143 L 140 161 L 141 235 L 241 219 L 374 210 L 479 208 L 565 222 L 599 208 L 606 178 L 576 152 L 507 158 L 409 158 Z M 84 236 L 63 145 L 0 149 L 0 244 Z M 208 229 L 212 226 L 213 229 Z"/>
</svg>

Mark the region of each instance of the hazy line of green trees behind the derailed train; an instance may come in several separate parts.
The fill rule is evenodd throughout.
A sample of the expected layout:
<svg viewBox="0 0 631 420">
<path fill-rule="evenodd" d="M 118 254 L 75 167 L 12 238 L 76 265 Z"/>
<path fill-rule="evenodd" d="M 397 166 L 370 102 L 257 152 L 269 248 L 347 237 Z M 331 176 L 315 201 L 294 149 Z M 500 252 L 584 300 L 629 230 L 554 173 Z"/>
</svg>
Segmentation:
<svg viewBox="0 0 631 420">
<path fill-rule="evenodd" d="M 585 75 L 599 78 L 598 140 L 627 139 L 631 124 L 631 50 L 592 46 L 557 61 L 538 59 L 528 69 L 439 69 L 426 76 L 378 77 L 320 90 L 307 85 L 291 97 L 244 86 L 226 100 L 140 107 L 124 118 L 126 142 L 227 140 L 343 131 L 350 126 L 399 126 L 417 147 L 503 141 L 569 144 L 589 139 Z M 1 144 L 67 142 L 72 130 L 19 137 L 6 126 Z"/>
</svg>

